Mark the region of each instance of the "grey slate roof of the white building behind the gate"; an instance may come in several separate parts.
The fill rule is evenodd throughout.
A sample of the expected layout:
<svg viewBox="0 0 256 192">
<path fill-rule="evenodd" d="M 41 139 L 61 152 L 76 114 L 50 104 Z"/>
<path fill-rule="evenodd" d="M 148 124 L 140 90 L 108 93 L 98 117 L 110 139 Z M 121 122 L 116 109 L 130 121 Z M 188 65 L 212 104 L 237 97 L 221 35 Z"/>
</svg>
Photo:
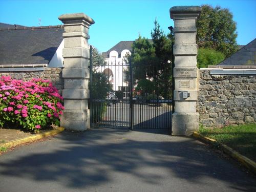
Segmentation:
<svg viewBox="0 0 256 192">
<path fill-rule="evenodd" d="M 152 39 L 147 39 L 150 42 L 153 42 Z M 121 52 L 125 49 L 132 51 L 132 45 L 133 45 L 134 40 L 125 40 L 125 41 L 120 41 L 118 44 L 116 44 L 114 47 L 112 47 L 109 51 L 103 52 L 102 56 L 104 58 L 110 57 L 110 52 L 111 51 L 117 51 L 118 57 L 121 57 Z"/>
</svg>

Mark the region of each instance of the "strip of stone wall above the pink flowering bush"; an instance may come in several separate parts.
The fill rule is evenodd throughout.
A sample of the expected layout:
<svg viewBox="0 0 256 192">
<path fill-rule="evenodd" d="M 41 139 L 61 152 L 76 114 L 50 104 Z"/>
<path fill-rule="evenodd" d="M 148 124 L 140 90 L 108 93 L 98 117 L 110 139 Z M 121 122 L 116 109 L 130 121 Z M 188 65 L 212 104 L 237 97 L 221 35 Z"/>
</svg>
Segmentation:
<svg viewBox="0 0 256 192">
<path fill-rule="evenodd" d="M 62 68 L 47 68 L 41 71 L 0 71 L 0 76 L 11 76 L 14 79 L 30 80 L 32 78 L 49 79 L 62 95 L 64 82 L 62 79 Z"/>
</svg>

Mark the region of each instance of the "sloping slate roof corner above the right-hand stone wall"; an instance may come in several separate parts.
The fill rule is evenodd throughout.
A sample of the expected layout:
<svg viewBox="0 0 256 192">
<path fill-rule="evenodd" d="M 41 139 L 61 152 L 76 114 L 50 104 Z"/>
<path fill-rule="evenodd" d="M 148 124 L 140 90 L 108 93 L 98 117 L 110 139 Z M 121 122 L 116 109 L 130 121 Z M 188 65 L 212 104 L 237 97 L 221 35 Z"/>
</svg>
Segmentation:
<svg viewBox="0 0 256 192">
<path fill-rule="evenodd" d="M 220 62 L 218 66 L 256 66 L 256 38 Z"/>
</svg>

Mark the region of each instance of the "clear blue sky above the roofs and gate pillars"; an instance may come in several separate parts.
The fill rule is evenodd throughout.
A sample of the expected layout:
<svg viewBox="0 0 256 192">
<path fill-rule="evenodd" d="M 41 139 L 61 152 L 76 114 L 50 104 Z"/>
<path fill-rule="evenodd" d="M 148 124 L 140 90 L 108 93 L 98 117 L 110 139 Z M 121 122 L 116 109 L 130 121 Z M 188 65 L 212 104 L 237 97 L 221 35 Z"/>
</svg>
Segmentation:
<svg viewBox="0 0 256 192">
<path fill-rule="evenodd" d="M 238 44 L 246 45 L 256 37 L 256 0 L 0 0 L 0 22 L 25 26 L 60 25 L 58 16 L 83 12 L 95 20 L 89 34 L 90 44 L 100 52 L 108 51 L 121 40 L 134 40 L 140 33 L 151 38 L 154 20 L 167 33 L 173 26 L 169 8 L 179 5 L 219 5 L 228 8 L 237 22 Z"/>
</svg>

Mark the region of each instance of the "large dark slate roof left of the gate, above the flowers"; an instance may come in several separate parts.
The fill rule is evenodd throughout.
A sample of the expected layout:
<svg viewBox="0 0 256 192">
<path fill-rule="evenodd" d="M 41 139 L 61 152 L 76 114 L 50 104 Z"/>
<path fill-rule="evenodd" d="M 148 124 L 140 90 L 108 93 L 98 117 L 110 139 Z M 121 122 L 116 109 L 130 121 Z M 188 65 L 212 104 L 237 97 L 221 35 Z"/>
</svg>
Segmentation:
<svg viewBox="0 0 256 192">
<path fill-rule="evenodd" d="M 1 28 L 0 65 L 48 64 L 63 32 L 62 26 Z"/>
</svg>

